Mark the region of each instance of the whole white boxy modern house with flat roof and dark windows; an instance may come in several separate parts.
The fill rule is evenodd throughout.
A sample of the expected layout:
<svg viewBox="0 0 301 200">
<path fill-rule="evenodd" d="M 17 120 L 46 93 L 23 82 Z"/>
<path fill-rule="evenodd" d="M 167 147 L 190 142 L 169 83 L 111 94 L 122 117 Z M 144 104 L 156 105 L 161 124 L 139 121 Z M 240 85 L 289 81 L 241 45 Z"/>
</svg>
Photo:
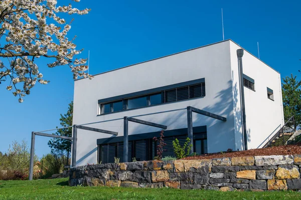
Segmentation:
<svg viewBox="0 0 301 200">
<path fill-rule="evenodd" d="M 280 74 L 226 40 L 75 81 L 73 123 L 118 133 L 78 129 L 76 165 L 124 160 L 124 116 L 166 125 L 164 156 L 173 155 L 172 141 L 188 137 L 188 106 L 226 118 L 193 113 L 200 154 L 260 148 L 284 124 Z M 153 159 L 161 129 L 128 122 L 128 161 Z"/>
</svg>

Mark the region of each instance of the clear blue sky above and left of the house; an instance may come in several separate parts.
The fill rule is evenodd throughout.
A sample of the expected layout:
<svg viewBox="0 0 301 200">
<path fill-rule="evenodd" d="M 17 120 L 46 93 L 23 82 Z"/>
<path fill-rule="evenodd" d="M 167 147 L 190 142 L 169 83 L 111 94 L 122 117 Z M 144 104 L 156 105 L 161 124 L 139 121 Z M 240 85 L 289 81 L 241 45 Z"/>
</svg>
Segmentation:
<svg viewBox="0 0 301 200">
<path fill-rule="evenodd" d="M 58 1 L 68 4 L 71 1 Z M 281 73 L 301 77 L 300 1 L 88 1 L 73 3 L 90 8 L 85 16 L 74 18 L 69 38 L 90 50 L 90 73 L 97 74 L 130 64 L 221 41 L 221 8 L 225 39 L 232 39 Z M 24 103 L 0 85 L 0 151 L 13 140 L 26 139 L 31 131 L 60 126 L 73 99 L 70 69 L 47 68 L 47 60 L 37 61 L 48 85 L 39 85 Z M 36 153 L 50 151 L 49 138 L 36 137 Z"/>
</svg>

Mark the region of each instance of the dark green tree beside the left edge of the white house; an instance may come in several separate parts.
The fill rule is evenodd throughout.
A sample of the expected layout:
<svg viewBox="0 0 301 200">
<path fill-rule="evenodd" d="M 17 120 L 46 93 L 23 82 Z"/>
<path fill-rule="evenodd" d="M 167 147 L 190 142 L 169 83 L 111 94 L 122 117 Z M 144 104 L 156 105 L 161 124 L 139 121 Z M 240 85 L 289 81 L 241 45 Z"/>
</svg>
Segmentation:
<svg viewBox="0 0 301 200">
<path fill-rule="evenodd" d="M 73 118 L 73 101 L 69 104 L 68 111 L 66 114 L 61 114 L 61 126 L 68 127 L 72 126 Z M 58 128 L 58 127 L 57 127 Z M 72 127 L 58 129 L 55 135 L 68 136 L 72 137 Z M 52 138 L 48 142 L 49 147 L 51 148 L 51 153 L 55 156 L 64 156 L 66 157 L 66 164 L 69 164 L 69 155 L 71 152 L 71 141 L 60 138 Z"/>
</svg>

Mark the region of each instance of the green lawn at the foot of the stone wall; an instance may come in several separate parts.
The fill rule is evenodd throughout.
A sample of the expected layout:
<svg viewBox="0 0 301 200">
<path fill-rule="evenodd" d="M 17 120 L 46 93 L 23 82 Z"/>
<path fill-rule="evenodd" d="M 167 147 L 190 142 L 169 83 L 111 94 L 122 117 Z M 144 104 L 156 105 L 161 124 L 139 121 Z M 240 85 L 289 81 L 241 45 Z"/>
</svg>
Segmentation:
<svg viewBox="0 0 301 200">
<path fill-rule="evenodd" d="M 295 191 L 212 191 L 171 188 L 70 187 L 67 178 L 0 180 L 0 199 L 301 199 Z"/>
</svg>

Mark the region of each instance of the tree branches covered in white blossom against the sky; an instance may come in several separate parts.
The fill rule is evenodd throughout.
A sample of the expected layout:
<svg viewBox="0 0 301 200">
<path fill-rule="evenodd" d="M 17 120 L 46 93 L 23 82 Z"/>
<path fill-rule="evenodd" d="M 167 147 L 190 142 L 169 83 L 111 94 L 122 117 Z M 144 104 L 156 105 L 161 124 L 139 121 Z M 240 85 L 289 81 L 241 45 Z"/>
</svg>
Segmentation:
<svg viewBox="0 0 301 200">
<path fill-rule="evenodd" d="M 79 2 L 80 0 L 73 0 Z M 35 59 L 48 58 L 48 67 L 67 65 L 73 78 L 92 76 L 85 73 L 87 59 L 74 58 L 82 50 L 66 36 L 71 23 L 66 24 L 58 15 L 88 14 L 90 10 L 78 10 L 70 5 L 57 6 L 57 0 L 1 0 L 0 1 L 0 84 L 10 81 L 7 90 L 12 90 L 19 102 L 30 94 L 37 82 L 47 84 Z M 53 22 L 53 23 L 49 23 Z M 5 42 L 3 44 L 3 42 Z M 22 88 L 19 88 L 23 84 Z"/>
</svg>

